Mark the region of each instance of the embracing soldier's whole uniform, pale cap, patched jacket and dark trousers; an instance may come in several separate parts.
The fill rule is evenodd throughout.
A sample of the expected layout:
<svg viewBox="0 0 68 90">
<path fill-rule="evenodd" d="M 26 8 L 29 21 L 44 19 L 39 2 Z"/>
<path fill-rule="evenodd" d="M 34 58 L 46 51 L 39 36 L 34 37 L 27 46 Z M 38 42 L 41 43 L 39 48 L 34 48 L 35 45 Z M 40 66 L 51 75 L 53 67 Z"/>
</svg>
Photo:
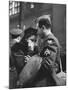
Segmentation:
<svg viewBox="0 0 68 90">
<path fill-rule="evenodd" d="M 48 19 L 51 24 L 50 15 L 41 16 L 38 18 L 38 21 L 41 19 Z M 38 24 L 38 26 L 40 25 Z M 38 33 L 37 40 L 42 63 L 36 78 L 36 86 L 54 86 L 57 80 L 55 79 L 56 74 L 60 72 L 60 44 L 58 39 L 51 32 L 48 35 L 42 32 Z"/>
</svg>

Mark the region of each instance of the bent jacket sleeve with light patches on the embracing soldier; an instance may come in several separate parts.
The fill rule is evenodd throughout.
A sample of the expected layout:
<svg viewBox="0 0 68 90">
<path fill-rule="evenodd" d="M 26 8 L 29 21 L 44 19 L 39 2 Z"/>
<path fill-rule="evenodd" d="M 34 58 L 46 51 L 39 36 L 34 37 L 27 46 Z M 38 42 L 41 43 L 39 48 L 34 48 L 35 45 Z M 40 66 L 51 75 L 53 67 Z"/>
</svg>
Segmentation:
<svg viewBox="0 0 68 90">
<path fill-rule="evenodd" d="M 52 71 L 58 66 L 57 63 L 55 63 L 57 57 L 57 48 L 58 44 L 53 39 L 47 39 L 44 42 L 44 48 L 40 55 L 43 57 L 42 65 L 49 71 Z"/>
</svg>

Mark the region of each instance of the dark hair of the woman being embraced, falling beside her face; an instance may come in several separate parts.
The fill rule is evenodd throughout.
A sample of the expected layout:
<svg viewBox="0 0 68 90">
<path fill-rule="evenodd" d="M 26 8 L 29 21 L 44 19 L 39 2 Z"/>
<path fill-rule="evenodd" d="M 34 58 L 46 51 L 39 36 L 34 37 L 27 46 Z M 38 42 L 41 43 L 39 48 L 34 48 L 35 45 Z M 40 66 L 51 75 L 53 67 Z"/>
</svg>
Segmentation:
<svg viewBox="0 0 68 90">
<path fill-rule="evenodd" d="M 26 41 L 26 39 L 28 39 L 32 35 L 37 35 L 37 29 L 29 27 L 24 31 L 24 37 L 20 41 L 20 49 L 24 52 L 25 55 L 27 55 L 28 52 L 28 42 Z"/>
</svg>

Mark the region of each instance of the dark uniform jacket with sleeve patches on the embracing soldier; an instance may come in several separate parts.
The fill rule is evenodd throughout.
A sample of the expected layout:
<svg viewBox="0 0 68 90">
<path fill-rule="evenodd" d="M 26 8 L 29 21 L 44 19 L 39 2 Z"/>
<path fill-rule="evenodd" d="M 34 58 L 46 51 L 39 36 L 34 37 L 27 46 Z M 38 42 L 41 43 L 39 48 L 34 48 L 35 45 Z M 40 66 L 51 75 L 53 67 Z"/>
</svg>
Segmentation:
<svg viewBox="0 0 68 90">
<path fill-rule="evenodd" d="M 39 40 L 39 47 L 40 56 L 43 58 L 42 65 L 48 71 L 54 69 L 58 73 L 60 71 L 60 44 L 58 39 L 51 33 Z"/>
</svg>

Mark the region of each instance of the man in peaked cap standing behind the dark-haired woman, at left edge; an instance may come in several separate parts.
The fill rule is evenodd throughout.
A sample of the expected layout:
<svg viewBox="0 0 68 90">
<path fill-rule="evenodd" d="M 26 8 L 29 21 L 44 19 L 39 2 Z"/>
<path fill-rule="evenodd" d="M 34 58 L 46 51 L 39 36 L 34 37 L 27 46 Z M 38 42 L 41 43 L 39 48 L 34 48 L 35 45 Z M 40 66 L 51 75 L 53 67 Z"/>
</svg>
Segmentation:
<svg viewBox="0 0 68 90">
<path fill-rule="evenodd" d="M 9 88 L 15 88 L 16 80 L 17 80 L 17 73 L 19 66 L 23 66 L 23 60 L 17 60 L 15 57 L 15 53 L 18 51 L 18 43 L 21 40 L 21 35 L 23 36 L 23 31 L 19 28 L 12 29 L 9 31 L 9 74 L 10 74 L 10 85 Z M 23 56 L 22 56 L 23 57 Z M 21 63 L 20 63 L 21 62 Z M 20 65 L 19 65 L 20 64 Z M 18 66 L 19 65 L 19 66 Z"/>
</svg>

